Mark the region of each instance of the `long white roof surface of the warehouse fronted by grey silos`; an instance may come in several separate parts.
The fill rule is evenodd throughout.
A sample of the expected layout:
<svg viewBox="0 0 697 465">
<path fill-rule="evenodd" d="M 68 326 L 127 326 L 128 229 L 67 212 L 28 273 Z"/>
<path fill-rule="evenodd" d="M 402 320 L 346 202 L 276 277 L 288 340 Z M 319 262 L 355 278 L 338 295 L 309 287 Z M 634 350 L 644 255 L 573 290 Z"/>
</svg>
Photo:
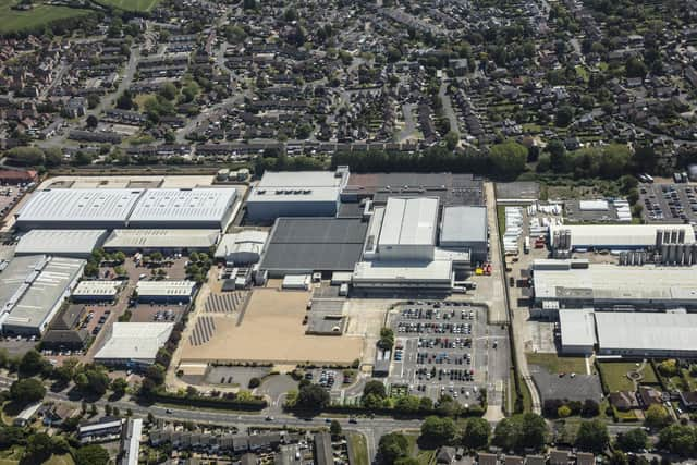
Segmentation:
<svg viewBox="0 0 697 465">
<path fill-rule="evenodd" d="M 684 231 L 685 244 L 695 242 L 695 230 L 689 224 L 560 224 L 550 225 L 550 237 L 557 231 L 571 232 L 574 247 L 650 247 L 656 245 L 656 233 Z"/>
</svg>

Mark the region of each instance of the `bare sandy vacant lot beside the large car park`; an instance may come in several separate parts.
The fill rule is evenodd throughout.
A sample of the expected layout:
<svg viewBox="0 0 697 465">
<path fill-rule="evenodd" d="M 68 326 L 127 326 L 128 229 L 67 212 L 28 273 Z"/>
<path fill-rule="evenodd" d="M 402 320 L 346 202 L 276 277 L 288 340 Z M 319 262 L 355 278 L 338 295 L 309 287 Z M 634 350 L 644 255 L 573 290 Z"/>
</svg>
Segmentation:
<svg viewBox="0 0 697 465">
<path fill-rule="evenodd" d="M 216 316 L 216 332 L 199 346 L 183 342 L 182 363 L 271 362 L 274 364 L 351 364 L 360 358 L 358 335 L 306 335 L 303 317 L 308 292 L 254 290 L 240 326 L 235 319 Z M 209 314 L 210 315 L 210 314 Z"/>
</svg>

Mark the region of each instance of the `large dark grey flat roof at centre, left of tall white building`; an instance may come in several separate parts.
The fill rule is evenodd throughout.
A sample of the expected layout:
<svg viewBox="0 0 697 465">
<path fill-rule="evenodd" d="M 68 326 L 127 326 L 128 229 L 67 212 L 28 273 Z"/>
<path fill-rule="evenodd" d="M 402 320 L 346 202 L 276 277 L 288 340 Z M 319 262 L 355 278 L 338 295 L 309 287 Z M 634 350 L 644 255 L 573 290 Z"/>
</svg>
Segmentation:
<svg viewBox="0 0 697 465">
<path fill-rule="evenodd" d="M 353 270 L 367 228 L 353 218 L 279 218 L 261 269 Z"/>
</svg>

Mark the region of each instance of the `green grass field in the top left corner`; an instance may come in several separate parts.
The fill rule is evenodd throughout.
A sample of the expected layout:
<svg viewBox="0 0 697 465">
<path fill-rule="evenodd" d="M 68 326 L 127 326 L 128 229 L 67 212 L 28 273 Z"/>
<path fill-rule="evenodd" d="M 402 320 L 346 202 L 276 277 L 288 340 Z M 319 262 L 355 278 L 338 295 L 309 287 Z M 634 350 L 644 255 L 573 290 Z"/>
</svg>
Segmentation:
<svg viewBox="0 0 697 465">
<path fill-rule="evenodd" d="M 93 13 L 90 10 L 53 7 L 44 3 L 37 3 L 28 11 L 12 10 L 16 3 L 14 0 L 0 0 L 0 35 L 16 34 L 27 29 L 35 30 L 54 21 Z"/>
</svg>

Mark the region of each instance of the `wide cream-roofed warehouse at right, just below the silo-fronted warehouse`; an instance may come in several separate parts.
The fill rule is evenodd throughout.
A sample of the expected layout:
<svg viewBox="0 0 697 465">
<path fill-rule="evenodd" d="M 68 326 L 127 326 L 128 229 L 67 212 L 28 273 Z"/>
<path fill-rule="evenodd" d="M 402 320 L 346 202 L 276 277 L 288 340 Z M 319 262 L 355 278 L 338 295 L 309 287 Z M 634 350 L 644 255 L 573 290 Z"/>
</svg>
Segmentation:
<svg viewBox="0 0 697 465">
<path fill-rule="evenodd" d="M 535 260 L 535 304 L 559 308 L 697 308 L 697 267 Z"/>
</svg>

